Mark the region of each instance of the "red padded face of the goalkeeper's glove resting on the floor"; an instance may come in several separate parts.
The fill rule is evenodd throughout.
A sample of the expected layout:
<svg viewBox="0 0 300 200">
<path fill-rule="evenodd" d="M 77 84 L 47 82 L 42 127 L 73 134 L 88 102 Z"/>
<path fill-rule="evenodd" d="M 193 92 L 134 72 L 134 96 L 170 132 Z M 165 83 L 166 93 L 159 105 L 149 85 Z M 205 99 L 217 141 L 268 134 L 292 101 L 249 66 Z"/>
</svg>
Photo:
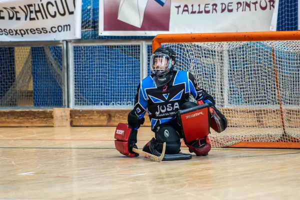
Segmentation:
<svg viewBox="0 0 300 200">
<path fill-rule="evenodd" d="M 118 123 L 114 132 L 114 145 L 116 150 L 128 157 L 135 157 L 136 154 L 129 152 L 128 139 L 131 134 L 131 128 L 126 123 Z M 130 150 L 131 151 L 131 150 Z"/>
</svg>

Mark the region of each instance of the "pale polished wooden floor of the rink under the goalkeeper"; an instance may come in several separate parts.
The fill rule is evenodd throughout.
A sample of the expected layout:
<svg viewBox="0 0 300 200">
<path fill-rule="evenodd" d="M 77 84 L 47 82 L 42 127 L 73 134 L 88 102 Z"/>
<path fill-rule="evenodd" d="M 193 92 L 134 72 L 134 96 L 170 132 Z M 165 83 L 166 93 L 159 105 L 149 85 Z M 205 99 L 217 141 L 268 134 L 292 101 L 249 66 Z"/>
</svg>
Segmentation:
<svg viewBox="0 0 300 200">
<path fill-rule="evenodd" d="M 0 128 L 0 199 L 300 199 L 300 150 L 214 148 L 153 162 L 122 156 L 113 133 Z M 141 127 L 138 148 L 152 136 Z"/>
</svg>

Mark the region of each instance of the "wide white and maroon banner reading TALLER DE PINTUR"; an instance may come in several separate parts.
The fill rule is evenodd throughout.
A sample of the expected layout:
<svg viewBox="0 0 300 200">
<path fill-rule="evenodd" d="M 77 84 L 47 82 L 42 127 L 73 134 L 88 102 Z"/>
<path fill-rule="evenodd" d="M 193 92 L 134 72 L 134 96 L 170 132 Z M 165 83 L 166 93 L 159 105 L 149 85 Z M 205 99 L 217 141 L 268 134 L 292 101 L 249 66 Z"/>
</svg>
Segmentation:
<svg viewBox="0 0 300 200">
<path fill-rule="evenodd" d="M 269 31 L 275 0 L 99 0 L 99 35 Z"/>
</svg>

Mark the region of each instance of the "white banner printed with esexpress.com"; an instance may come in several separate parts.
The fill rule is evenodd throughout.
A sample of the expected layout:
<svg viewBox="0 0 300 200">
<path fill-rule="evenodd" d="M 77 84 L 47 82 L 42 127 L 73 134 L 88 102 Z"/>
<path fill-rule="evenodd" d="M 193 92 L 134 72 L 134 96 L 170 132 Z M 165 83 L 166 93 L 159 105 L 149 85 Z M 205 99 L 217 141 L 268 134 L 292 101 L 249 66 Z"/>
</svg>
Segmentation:
<svg viewBox="0 0 300 200">
<path fill-rule="evenodd" d="M 0 0 L 0 41 L 81 38 L 81 0 Z"/>
</svg>

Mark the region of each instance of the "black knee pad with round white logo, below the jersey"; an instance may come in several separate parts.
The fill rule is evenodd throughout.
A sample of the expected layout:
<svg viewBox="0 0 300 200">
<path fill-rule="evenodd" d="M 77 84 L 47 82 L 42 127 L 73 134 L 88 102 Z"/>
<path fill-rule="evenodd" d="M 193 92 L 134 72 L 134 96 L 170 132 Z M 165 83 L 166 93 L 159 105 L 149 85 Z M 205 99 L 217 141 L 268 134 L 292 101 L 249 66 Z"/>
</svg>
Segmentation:
<svg viewBox="0 0 300 200">
<path fill-rule="evenodd" d="M 158 151 L 162 151 L 162 145 L 165 142 L 165 154 L 178 153 L 181 146 L 179 133 L 170 125 L 161 125 L 158 127 L 158 130 L 155 132 Z"/>
</svg>

